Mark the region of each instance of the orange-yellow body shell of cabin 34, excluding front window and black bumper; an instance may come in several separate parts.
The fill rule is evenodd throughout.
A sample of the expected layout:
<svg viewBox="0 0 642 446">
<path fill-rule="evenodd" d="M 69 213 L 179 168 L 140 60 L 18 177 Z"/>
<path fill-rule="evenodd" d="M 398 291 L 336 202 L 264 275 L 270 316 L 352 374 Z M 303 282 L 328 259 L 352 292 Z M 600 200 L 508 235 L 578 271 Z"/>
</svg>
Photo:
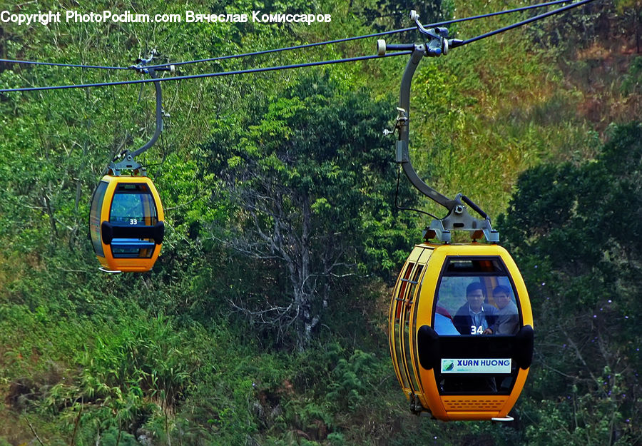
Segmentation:
<svg viewBox="0 0 642 446">
<path fill-rule="evenodd" d="M 432 326 L 435 308 L 434 296 L 447 258 L 501 258 L 511 278 L 516 302 L 521 315 L 521 326 L 533 326 L 531 305 L 526 285 L 509 253 L 499 245 L 416 245 L 410 253 L 394 288 L 389 310 L 389 348 L 395 374 L 408 399 L 412 395 L 439 420 L 491 420 L 506 417 L 521 393 L 529 369 L 519 369 L 509 395 L 440 395 L 434 368 L 419 365 L 417 332 L 422 325 Z M 484 267 L 484 261 L 479 262 Z M 490 263 L 490 262 L 489 262 Z M 417 268 L 417 283 L 412 285 L 414 295 L 406 295 L 409 279 Z M 484 267 L 485 268 L 485 267 Z M 402 280 L 403 279 L 403 280 Z M 493 305 L 491 290 L 498 284 L 494 277 L 487 278 L 486 295 Z M 416 286 L 415 286 L 416 285 Z M 404 305 L 410 308 L 404 311 Z M 412 315 L 412 317 L 411 317 Z M 405 318 L 411 317 L 411 320 Z M 409 330 L 404 330 L 408 325 Z M 406 333 L 404 333 L 406 331 Z M 399 351 L 403 350 L 403 351 Z"/>
</svg>

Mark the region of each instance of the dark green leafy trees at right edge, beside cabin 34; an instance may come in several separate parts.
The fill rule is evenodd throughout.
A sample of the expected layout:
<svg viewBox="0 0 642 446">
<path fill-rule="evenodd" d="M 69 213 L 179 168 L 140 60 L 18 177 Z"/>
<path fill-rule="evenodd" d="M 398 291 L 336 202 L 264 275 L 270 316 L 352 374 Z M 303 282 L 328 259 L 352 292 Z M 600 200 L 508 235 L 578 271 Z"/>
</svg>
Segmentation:
<svg viewBox="0 0 642 446">
<path fill-rule="evenodd" d="M 534 444 L 551 431 L 569 445 L 641 435 L 641 172 L 642 125 L 613 127 L 595 160 L 521 175 L 499 223 L 536 317 L 529 412 L 546 421 L 529 427 Z"/>
</svg>

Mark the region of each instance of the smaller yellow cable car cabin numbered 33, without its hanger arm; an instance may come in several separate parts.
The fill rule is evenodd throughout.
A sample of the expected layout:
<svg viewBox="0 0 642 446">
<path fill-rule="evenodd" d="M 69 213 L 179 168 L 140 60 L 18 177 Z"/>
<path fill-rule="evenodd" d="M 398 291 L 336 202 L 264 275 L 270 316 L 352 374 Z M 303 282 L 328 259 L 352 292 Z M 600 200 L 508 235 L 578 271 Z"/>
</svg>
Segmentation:
<svg viewBox="0 0 642 446">
<path fill-rule="evenodd" d="M 93 193 L 89 232 L 103 270 L 151 270 L 165 233 L 161 197 L 146 176 L 103 176 Z"/>
</svg>

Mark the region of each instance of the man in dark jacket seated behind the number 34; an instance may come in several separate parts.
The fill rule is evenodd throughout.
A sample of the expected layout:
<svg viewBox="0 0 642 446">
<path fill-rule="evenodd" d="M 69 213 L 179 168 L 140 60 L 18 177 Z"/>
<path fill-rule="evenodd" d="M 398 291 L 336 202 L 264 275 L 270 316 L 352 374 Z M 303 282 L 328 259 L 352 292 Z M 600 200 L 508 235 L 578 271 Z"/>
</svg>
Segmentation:
<svg viewBox="0 0 642 446">
<path fill-rule="evenodd" d="M 468 301 L 457 310 L 453 323 L 462 335 L 492 335 L 496 323 L 497 309 L 484 303 L 484 286 L 473 282 L 466 288 Z"/>
</svg>

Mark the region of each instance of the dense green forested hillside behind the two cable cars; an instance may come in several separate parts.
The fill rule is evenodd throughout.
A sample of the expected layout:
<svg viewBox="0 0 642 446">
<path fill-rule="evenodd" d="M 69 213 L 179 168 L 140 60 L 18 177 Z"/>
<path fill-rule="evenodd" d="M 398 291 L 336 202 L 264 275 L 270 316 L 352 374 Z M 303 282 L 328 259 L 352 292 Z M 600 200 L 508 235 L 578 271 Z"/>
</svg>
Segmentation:
<svg viewBox="0 0 642 446">
<path fill-rule="evenodd" d="M 404 29 L 411 9 L 428 24 L 526 4 L 0 0 L 0 89 L 146 78 L 16 61 L 176 64 Z M 183 20 L 82 19 L 103 11 Z M 640 0 L 596 0 L 414 76 L 414 166 L 489 213 L 529 290 L 534 359 L 503 424 L 412 415 L 392 368 L 392 289 L 429 224 L 396 204 L 443 213 L 398 181 L 384 132 L 407 56 L 163 82 L 163 132 L 139 159 L 165 208 L 147 273 L 99 271 L 88 222 L 108 163 L 154 133 L 153 86 L 0 92 L 0 446 L 642 445 L 641 34 Z M 379 38 L 160 76 L 372 56 Z"/>
</svg>

